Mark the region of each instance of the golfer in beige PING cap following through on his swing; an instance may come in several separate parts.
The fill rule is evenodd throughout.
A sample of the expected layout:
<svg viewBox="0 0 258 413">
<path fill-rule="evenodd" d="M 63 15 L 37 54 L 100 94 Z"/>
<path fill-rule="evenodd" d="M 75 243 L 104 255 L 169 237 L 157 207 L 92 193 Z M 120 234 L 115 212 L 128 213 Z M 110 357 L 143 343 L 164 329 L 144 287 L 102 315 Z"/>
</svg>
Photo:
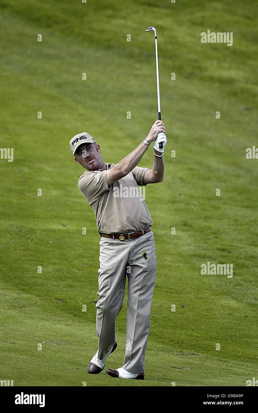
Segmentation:
<svg viewBox="0 0 258 413">
<path fill-rule="evenodd" d="M 128 278 L 125 359 L 122 367 L 107 369 L 112 377 L 144 380 L 144 357 L 150 330 L 151 301 L 156 278 L 156 250 L 151 216 L 138 185 L 163 180 L 164 123 L 157 120 L 147 138 L 118 164 L 101 157 L 100 146 L 88 133 L 75 135 L 70 147 L 75 161 L 87 171 L 78 187 L 96 215 L 100 235 L 99 290 L 96 328 L 99 348 L 88 373 L 98 374 L 117 347 L 116 317 L 123 306 Z M 137 166 L 154 141 L 152 169 Z M 159 148 L 162 142 L 163 148 Z"/>
</svg>

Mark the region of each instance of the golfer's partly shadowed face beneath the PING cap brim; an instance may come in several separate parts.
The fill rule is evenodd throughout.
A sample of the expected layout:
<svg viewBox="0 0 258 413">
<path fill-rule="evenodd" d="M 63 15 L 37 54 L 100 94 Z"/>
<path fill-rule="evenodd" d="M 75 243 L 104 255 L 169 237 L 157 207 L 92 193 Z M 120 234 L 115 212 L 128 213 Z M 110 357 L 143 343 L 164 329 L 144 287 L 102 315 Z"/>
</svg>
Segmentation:
<svg viewBox="0 0 258 413">
<path fill-rule="evenodd" d="M 78 147 L 74 160 L 88 171 L 96 171 L 102 165 L 100 146 L 92 143 L 84 143 Z"/>
</svg>

